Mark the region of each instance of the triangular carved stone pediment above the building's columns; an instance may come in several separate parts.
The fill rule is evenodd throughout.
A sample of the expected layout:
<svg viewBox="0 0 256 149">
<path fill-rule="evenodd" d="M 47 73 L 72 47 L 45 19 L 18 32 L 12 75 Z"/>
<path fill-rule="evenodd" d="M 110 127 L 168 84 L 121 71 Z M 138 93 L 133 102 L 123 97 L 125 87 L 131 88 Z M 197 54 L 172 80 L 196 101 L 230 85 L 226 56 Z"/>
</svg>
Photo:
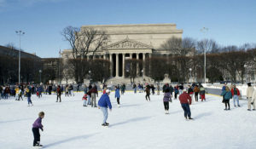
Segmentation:
<svg viewBox="0 0 256 149">
<path fill-rule="evenodd" d="M 127 37 L 125 40 L 109 44 L 104 49 L 153 49 L 153 47 L 145 43 L 131 40 Z"/>
</svg>

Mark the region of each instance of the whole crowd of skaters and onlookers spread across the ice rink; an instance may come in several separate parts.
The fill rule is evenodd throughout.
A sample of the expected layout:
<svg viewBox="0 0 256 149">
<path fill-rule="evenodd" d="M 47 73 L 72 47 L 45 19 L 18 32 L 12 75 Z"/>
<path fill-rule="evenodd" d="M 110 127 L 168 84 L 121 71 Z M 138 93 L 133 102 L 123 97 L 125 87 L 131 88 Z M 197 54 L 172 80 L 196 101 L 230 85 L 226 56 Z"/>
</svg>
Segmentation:
<svg viewBox="0 0 256 149">
<path fill-rule="evenodd" d="M 143 86 L 144 85 L 144 86 Z M 80 88 L 80 86 L 79 86 Z M 112 111 L 111 100 L 109 99 L 109 95 L 111 93 L 111 89 L 108 89 L 107 84 L 103 84 L 102 88 L 102 96 L 97 101 L 98 97 L 98 88 L 96 84 L 84 85 L 84 95 L 82 100 L 84 101 L 83 106 L 91 106 L 97 107 L 101 109 L 103 114 L 102 126 L 108 126 L 108 108 Z M 134 94 L 137 94 L 137 89 L 139 93 L 145 94 L 145 99 L 149 102 L 150 95 L 155 94 L 160 95 L 160 91 L 163 92 L 163 105 L 166 114 L 169 114 L 169 103 L 172 103 L 173 100 L 179 100 L 180 105 L 183 109 L 183 116 L 186 120 L 192 120 L 190 105 L 193 102 L 198 102 L 199 99 L 201 101 L 206 101 L 207 91 L 203 87 L 203 85 L 192 83 L 191 85 L 184 86 L 183 83 L 176 84 L 172 87 L 172 84 L 165 83 L 160 90 L 160 84 L 156 84 L 156 88 L 154 84 L 149 83 L 138 83 L 133 84 L 132 89 Z M 125 83 L 121 85 L 114 86 L 114 98 L 117 100 L 118 107 L 120 107 L 120 97 L 121 95 L 125 95 L 126 86 Z M 42 97 L 42 94 L 45 95 L 56 95 L 56 102 L 61 102 L 61 95 L 65 95 L 67 97 L 74 96 L 73 93 L 73 84 L 67 85 L 15 85 L 15 86 L 0 86 L 0 99 L 8 99 L 9 96 L 15 97 L 15 100 L 24 100 L 24 97 L 27 99 L 28 106 L 33 106 L 31 97 L 32 95 L 37 95 L 38 98 Z M 236 107 L 240 107 L 239 100 L 241 99 L 241 90 L 236 88 L 236 84 L 232 84 L 230 86 L 227 83 L 224 84 L 222 88 L 221 96 L 223 96 L 222 102 L 224 103 L 224 110 L 230 111 L 230 100 L 233 99 L 233 104 Z M 251 111 L 253 106 L 253 111 L 255 111 L 256 107 L 256 90 L 253 89 L 251 83 L 247 83 L 247 110 Z M 40 135 L 39 129 L 43 130 L 43 125 L 41 124 L 42 119 L 44 118 L 44 112 L 39 113 L 38 119 L 33 123 L 32 132 L 34 135 L 33 146 L 42 146 L 40 145 Z"/>
</svg>

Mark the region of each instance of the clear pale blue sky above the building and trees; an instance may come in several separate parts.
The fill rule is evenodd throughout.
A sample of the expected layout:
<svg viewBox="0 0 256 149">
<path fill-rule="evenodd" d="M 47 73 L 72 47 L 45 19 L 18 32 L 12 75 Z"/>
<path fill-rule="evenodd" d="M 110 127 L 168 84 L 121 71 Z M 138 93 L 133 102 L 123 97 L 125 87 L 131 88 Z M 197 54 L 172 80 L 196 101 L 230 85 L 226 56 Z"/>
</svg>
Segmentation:
<svg viewBox="0 0 256 149">
<path fill-rule="evenodd" d="M 0 0 L 0 45 L 19 46 L 40 57 L 68 49 L 66 26 L 175 23 L 183 37 L 206 37 L 221 45 L 256 43 L 254 0 Z"/>
</svg>

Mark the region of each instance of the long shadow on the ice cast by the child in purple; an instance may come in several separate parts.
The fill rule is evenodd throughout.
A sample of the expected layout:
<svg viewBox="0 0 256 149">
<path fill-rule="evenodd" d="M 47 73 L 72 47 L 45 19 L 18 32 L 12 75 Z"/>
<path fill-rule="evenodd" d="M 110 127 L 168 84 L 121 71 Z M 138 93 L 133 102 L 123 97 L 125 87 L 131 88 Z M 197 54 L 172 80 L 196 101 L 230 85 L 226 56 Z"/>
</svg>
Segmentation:
<svg viewBox="0 0 256 149">
<path fill-rule="evenodd" d="M 98 134 L 98 133 L 96 133 Z M 53 143 L 49 143 L 47 145 L 44 145 L 44 148 L 48 148 L 48 147 L 51 147 L 51 146 L 58 146 L 62 143 L 66 143 L 66 142 L 69 142 L 69 141 L 73 141 L 73 140 L 84 140 L 84 139 L 87 139 L 87 138 L 90 138 L 96 134 L 91 134 L 91 135 L 78 135 L 78 136 L 73 136 L 71 138 L 67 138 L 65 140 L 58 140 L 58 141 L 55 141 Z"/>
</svg>

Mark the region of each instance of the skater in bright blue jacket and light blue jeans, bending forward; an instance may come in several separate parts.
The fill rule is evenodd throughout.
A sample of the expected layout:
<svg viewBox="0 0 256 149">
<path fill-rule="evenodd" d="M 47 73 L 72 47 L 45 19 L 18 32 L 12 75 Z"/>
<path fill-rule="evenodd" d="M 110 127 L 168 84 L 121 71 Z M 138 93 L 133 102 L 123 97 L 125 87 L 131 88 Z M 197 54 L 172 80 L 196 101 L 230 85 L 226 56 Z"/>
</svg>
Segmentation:
<svg viewBox="0 0 256 149">
<path fill-rule="evenodd" d="M 102 97 L 100 98 L 100 100 L 98 101 L 98 108 L 102 110 L 103 113 L 103 122 L 102 122 L 102 126 L 108 126 L 109 123 L 107 123 L 107 119 L 108 119 L 108 108 L 109 111 L 112 111 L 112 105 L 111 102 L 109 100 L 109 94 L 110 94 L 110 90 L 107 89 L 106 90 L 106 94 L 102 95 Z"/>
</svg>

